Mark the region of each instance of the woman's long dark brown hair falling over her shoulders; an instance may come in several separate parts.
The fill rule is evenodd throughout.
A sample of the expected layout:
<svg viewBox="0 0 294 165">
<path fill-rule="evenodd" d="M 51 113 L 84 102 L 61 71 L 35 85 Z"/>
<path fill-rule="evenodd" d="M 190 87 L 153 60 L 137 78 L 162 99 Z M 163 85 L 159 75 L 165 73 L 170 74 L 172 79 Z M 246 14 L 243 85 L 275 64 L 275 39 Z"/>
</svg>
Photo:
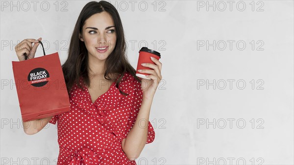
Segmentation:
<svg viewBox="0 0 294 165">
<path fill-rule="evenodd" d="M 105 61 L 105 73 L 104 78 L 107 80 L 116 80 L 115 78 L 109 77 L 109 74 L 119 75 L 116 82 L 116 87 L 119 88 L 119 83 L 123 78 L 124 73 L 127 71 L 133 75 L 139 82 L 141 80 L 136 76 L 136 70 L 130 65 L 126 56 L 126 44 L 124 39 L 123 24 L 117 9 L 109 2 L 101 0 L 91 1 L 87 3 L 73 29 L 73 35 L 69 47 L 69 56 L 66 62 L 62 65 L 62 71 L 64 73 L 64 79 L 66 82 L 68 93 L 70 94 L 73 84 L 76 83 L 79 88 L 80 77 L 83 78 L 84 84 L 90 86 L 90 78 L 88 72 L 90 71 L 88 65 L 88 50 L 84 42 L 79 40 L 79 33 L 82 34 L 82 27 L 85 21 L 94 14 L 107 12 L 111 15 L 116 29 L 117 41 L 116 46 L 111 54 L 106 58 Z M 127 95 L 120 90 L 120 93 Z"/>
</svg>

